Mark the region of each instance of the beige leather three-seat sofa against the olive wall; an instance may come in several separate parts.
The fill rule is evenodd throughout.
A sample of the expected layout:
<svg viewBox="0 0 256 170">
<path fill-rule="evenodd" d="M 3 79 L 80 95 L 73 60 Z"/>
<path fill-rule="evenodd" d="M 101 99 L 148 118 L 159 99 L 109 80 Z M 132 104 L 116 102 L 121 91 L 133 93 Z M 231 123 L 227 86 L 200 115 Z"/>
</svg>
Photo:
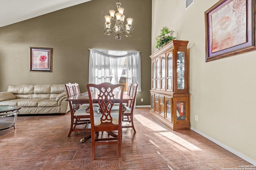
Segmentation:
<svg viewBox="0 0 256 170">
<path fill-rule="evenodd" d="M 0 92 L 0 105 L 21 106 L 18 114 L 66 114 L 65 84 L 10 85 Z"/>
</svg>

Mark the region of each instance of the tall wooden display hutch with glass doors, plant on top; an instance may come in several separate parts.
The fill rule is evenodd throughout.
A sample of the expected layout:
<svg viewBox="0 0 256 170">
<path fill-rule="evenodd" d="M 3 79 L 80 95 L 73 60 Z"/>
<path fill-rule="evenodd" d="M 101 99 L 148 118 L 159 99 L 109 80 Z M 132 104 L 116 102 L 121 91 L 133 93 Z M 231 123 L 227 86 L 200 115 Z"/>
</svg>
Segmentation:
<svg viewBox="0 0 256 170">
<path fill-rule="evenodd" d="M 150 114 L 172 130 L 190 129 L 187 45 L 173 40 L 150 56 Z"/>
</svg>

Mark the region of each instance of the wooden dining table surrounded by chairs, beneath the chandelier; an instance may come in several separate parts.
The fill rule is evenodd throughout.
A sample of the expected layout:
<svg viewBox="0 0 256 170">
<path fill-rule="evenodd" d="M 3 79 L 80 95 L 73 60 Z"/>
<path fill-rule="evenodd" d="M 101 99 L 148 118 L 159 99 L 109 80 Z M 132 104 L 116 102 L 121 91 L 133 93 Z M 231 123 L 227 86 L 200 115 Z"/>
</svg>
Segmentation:
<svg viewBox="0 0 256 170">
<path fill-rule="evenodd" d="M 120 102 L 120 97 L 121 97 L 121 92 L 120 91 L 114 91 L 114 103 L 119 103 Z M 129 95 L 127 95 L 126 93 L 123 94 L 123 103 L 128 103 L 129 101 L 131 101 L 133 98 Z M 81 94 L 77 94 L 75 96 L 72 96 L 70 98 L 67 98 L 66 101 L 71 101 L 72 104 L 89 104 L 89 94 L 88 92 L 84 92 Z M 98 104 L 98 92 L 92 92 L 92 102 L 94 104 Z M 108 131 L 109 135 L 112 135 L 114 137 L 116 137 L 116 134 Z M 88 139 L 91 138 L 91 134 L 82 138 L 80 140 L 80 142 L 84 142 Z"/>
</svg>

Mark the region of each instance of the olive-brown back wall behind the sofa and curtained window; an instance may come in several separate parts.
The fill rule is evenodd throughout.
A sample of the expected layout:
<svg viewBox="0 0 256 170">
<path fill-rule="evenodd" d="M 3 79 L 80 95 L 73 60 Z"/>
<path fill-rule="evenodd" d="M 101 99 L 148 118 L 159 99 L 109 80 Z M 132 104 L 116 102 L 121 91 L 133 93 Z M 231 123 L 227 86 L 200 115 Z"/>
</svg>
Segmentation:
<svg viewBox="0 0 256 170">
<path fill-rule="evenodd" d="M 9 84 L 88 83 L 88 48 L 141 51 L 142 92 L 137 105 L 150 105 L 151 0 L 122 0 L 133 18 L 132 37 L 104 35 L 104 16 L 116 0 L 92 0 L 5 27 L 0 27 L 0 91 Z M 136 5 L 134 5 L 136 4 Z M 97 9 L 97 10 L 96 10 Z M 52 72 L 29 72 L 29 47 L 53 48 Z M 140 102 L 144 98 L 144 102 Z"/>
</svg>

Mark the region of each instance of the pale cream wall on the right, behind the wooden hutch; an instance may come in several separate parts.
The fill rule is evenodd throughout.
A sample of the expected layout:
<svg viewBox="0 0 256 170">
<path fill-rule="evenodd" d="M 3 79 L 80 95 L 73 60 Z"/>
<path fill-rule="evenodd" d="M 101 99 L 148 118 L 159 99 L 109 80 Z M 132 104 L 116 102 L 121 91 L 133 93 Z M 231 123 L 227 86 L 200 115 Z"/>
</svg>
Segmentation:
<svg viewBox="0 0 256 170">
<path fill-rule="evenodd" d="M 204 12 L 218 0 L 152 0 L 152 53 L 163 26 L 188 40 L 192 129 L 256 162 L 256 51 L 205 62 Z M 198 121 L 195 121 L 195 114 Z"/>
</svg>

